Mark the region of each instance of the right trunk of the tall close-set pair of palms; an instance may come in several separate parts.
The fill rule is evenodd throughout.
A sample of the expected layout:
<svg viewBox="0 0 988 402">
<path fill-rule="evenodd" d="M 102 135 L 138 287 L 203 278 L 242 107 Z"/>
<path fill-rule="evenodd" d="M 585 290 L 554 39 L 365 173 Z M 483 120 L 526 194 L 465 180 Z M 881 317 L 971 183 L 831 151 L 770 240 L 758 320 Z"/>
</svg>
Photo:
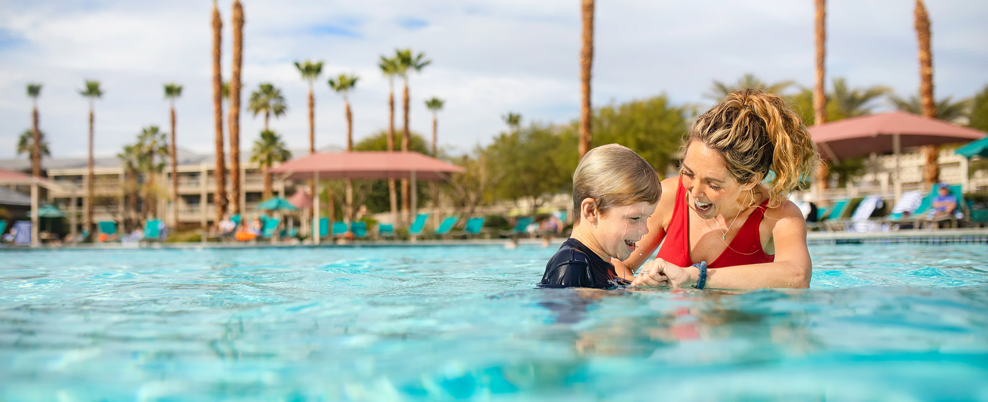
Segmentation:
<svg viewBox="0 0 988 402">
<path fill-rule="evenodd" d="M 230 194 L 233 213 L 240 213 L 240 66 L 243 64 L 244 9 L 240 0 L 233 0 L 230 16 L 233 24 L 233 71 L 230 73 Z"/>
</svg>

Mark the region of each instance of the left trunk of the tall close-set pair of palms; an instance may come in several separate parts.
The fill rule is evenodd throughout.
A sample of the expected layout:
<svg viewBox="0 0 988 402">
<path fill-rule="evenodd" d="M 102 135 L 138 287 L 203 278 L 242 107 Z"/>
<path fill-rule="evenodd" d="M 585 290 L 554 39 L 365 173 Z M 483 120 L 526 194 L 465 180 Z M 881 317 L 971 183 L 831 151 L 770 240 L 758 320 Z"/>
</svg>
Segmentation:
<svg viewBox="0 0 988 402">
<path fill-rule="evenodd" d="M 220 46 L 223 21 L 219 19 L 216 0 L 212 0 L 212 120 L 216 135 L 216 191 L 212 200 L 216 203 L 215 222 L 219 223 L 226 213 L 226 155 L 223 152 L 223 77 L 220 71 Z M 205 202 L 205 201 L 204 201 Z"/>
</svg>

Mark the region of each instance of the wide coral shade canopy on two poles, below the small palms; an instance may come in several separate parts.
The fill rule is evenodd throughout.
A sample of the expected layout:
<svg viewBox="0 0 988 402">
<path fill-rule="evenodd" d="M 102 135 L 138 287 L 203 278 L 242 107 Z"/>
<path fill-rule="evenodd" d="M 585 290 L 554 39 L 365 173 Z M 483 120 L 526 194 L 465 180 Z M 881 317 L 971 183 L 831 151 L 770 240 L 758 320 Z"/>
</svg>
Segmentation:
<svg viewBox="0 0 988 402">
<path fill-rule="evenodd" d="M 447 180 L 451 173 L 462 173 L 463 168 L 418 152 L 341 152 L 313 153 L 283 163 L 268 172 L 281 174 L 283 180 L 409 180 L 411 182 L 411 213 L 416 214 L 416 182 Z M 319 198 L 313 202 L 313 221 L 319 221 Z M 319 243 L 319 230 L 312 231 L 312 238 Z"/>
</svg>

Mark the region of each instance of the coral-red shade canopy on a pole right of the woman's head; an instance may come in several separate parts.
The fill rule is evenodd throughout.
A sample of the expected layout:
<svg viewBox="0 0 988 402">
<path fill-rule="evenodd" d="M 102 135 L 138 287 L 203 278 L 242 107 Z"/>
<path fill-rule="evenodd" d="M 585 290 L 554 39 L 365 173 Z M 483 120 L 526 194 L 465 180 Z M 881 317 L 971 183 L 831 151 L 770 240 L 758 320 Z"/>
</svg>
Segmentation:
<svg viewBox="0 0 988 402">
<path fill-rule="evenodd" d="M 902 196 L 899 155 L 903 147 L 941 145 L 984 137 L 985 132 L 927 119 L 905 112 L 892 112 L 833 121 L 809 128 L 820 148 L 820 156 L 834 162 L 869 154 L 895 155 L 895 198 Z M 966 168 L 966 166 L 964 167 Z"/>
</svg>

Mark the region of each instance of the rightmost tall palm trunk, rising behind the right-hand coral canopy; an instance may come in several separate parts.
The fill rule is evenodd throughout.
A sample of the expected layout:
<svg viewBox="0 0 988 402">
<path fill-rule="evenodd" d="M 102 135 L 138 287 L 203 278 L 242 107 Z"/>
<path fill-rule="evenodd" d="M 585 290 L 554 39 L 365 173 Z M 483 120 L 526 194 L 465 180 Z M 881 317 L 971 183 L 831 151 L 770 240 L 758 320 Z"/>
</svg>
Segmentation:
<svg viewBox="0 0 988 402">
<path fill-rule="evenodd" d="M 930 15 L 927 14 L 923 0 L 916 0 L 916 39 L 919 41 L 920 59 L 920 100 L 923 104 L 923 116 L 937 119 L 937 105 L 933 98 L 933 50 L 930 48 Z M 927 187 L 933 186 L 940 180 L 940 166 L 937 161 L 937 145 L 923 146 L 926 157 L 926 169 L 923 179 Z"/>
</svg>

